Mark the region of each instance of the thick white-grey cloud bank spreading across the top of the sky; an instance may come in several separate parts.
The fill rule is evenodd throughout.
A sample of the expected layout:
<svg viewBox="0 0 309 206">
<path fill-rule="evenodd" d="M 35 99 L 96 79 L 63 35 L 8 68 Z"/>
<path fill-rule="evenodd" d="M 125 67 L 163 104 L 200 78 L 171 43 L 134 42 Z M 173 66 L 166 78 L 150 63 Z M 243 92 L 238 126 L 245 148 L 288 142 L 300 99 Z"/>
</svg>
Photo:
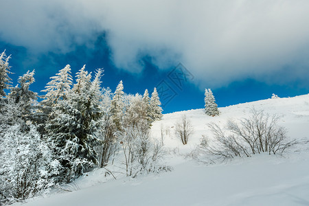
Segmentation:
<svg viewBox="0 0 309 206">
<path fill-rule="evenodd" d="M 309 1 L 47 2 L 1 3 L 0 38 L 65 53 L 105 30 L 117 67 L 139 72 L 144 55 L 161 69 L 182 62 L 201 87 L 309 76 Z"/>
</svg>

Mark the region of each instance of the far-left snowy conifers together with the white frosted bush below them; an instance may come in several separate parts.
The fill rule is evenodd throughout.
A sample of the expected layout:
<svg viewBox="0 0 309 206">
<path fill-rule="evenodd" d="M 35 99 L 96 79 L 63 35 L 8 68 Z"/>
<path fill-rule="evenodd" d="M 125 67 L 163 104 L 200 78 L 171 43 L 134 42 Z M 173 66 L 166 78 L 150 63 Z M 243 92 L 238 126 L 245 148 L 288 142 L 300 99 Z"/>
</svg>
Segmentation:
<svg viewBox="0 0 309 206">
<path fill-rule="evenodd" d="M 34 110 L 37 93 L 29 90 L 34 71 L 19 78 L 10 87 L 10 66 L 0 56 L 0 203 L 21 200 L 54 185 L 60 165 L 47 142 L 36 130 Z M 10 89 L 6 95 L 5 90 Z"/>
</svg>

